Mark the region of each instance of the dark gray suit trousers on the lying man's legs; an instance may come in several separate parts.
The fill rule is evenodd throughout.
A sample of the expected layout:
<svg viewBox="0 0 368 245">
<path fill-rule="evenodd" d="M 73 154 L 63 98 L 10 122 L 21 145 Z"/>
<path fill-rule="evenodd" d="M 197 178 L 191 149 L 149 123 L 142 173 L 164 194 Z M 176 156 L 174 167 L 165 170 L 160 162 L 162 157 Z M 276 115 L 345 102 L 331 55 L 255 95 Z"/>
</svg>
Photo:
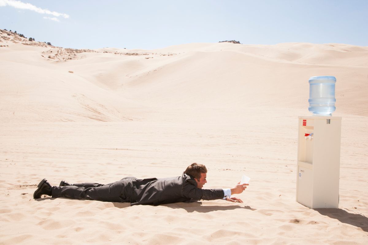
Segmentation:
<svg viewBox="0 0 368 245">
<path fill-rule="evenodd" d="M 126 177 L 110 184 L 80 183 L 69 186 L 53 186 L 52 197 L 97 200 L 104 202 L 130 202 L 132 181 L 135 177 Z"/>
</svg>

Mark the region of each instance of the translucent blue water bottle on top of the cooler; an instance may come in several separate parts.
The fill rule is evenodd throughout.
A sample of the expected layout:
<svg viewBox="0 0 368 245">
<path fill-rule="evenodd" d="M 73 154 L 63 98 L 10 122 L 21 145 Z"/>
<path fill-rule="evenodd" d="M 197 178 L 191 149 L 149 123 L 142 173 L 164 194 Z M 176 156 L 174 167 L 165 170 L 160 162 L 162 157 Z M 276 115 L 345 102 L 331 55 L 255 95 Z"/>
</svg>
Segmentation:
<svg viewBox="0 0 368 245">
<path fill-rule="evenodd" d="M 332 116 L 335 107 L 334 76 L 312 76 L 309 78 L 309 107 L 314 116 Z"/>
</svg>

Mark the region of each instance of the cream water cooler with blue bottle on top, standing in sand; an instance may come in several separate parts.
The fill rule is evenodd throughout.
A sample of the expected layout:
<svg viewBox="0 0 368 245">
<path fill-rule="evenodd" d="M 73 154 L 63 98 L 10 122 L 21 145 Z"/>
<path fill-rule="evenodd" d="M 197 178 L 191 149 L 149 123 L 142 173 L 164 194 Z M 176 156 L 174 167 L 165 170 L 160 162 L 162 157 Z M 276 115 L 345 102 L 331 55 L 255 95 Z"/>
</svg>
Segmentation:
<svg viewBox="0 0 368 245">
<path fill-rule="evenodd" d="M 322 89 L 323 86 L 325 84 L 322 84 Z M 315 91 L 312 89 L 310 93 L 313 93 L 310 94 L 310 98 L 315 96 Z M 333 86 L 333 99 L 335 99 L 335 84 Z M 318 101 L 318 103 L 320 102 Z M 311 102 L 309 104 L 311 105 Z M 318 111 L 318 105 L 313 105 L 313 109 L 317 112 L 313 111 L 314 116 L 298 117 L 296 201 L 312 209 L 339 208 L 342 118 L 330 116 L 330 113 L 335 111 L 335 103 L 328 104 L 329 107 L 333 106 L 333 108 L 325 113 L 326 116 L 323 116 L 323 111 L 326 111 L 327 107 L 323 104 L 320 105 L 320 111 Z"/>
</svg>

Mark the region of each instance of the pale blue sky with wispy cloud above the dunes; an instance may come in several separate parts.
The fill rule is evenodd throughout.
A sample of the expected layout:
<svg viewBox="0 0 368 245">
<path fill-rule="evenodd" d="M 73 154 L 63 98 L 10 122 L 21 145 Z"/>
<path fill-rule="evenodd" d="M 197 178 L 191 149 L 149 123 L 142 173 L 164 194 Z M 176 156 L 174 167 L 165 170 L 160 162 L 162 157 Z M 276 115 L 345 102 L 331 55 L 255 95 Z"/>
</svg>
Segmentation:
<svg viewBox="0 0 368 245">
<path fill-rule="evenodd" d="M 65 48 L 222 40 L 368 46 L 367 13 L 368 0 L 0 0 L 0 28 Z"/>
</svg>

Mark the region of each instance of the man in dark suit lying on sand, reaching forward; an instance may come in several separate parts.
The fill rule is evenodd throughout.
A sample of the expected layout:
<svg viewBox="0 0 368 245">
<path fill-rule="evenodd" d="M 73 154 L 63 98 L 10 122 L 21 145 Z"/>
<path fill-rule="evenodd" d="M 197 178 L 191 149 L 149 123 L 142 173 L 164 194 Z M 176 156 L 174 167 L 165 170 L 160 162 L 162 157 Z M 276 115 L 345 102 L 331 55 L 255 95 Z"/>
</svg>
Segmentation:
<svg viewBox="0 0 368 245">
<path fill-rule="evenodd" d="M 138 180 L 126 177 L 107 185 L 82 183 L 69 184 L 65 180 L 60 186 L 51 186 L 43 179 L 33 194 L 33 198 L 49 195 L 53 198 L 66 197 L 72 199 L 98 200 L 105 202 L 130 202 L 131 205 L 160 205 L 174 202 L 194 200 L 224 199 L 230 202 L 243 202 L 231 197 L 243 192 L 248 184 L 237 184 L 229 189 L 202 189 L 207 183 L 207 169 L 205 165 L 192 163 L 182 176 L 164 179 Z"/>
</svg>

